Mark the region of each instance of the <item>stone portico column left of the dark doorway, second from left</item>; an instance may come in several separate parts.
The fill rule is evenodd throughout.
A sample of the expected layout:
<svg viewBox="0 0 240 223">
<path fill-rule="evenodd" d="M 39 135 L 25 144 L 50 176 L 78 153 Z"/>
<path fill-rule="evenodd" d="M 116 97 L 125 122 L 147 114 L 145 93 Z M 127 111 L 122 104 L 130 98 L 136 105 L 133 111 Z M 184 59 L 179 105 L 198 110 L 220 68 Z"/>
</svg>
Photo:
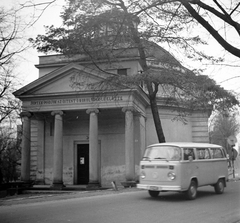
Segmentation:
<svg viewBox="0 0 240 223">
<path fill-rule="evenodd" d="M 54 143 L 53 143 L 53 189 L 63 188 L 63 120 L 62 111 L 53 111 Z"/>
</svg>

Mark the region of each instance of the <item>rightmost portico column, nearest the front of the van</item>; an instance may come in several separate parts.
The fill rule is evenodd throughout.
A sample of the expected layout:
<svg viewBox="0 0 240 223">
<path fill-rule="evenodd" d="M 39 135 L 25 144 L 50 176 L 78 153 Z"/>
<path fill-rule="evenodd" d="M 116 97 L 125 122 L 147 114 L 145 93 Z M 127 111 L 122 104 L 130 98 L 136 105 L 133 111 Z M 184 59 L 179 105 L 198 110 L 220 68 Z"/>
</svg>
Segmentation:
<svg viewBox="0 0 240 223">
<path fill-rule="evenodd" d="M 125 107 L 125 168 L 126 182 L 124 186 L 133 186 L 135 184 L 135 163 L 134 163 L 134 121 L 133 107 Z"/>
</svg>

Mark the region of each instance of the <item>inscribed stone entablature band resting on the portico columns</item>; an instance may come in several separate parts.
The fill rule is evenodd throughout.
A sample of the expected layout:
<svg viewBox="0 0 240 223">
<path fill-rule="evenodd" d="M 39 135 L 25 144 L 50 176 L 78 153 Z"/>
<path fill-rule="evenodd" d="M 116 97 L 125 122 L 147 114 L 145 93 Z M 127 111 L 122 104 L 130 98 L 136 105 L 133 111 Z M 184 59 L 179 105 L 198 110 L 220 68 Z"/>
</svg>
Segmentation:
<svg viewBox="0 0 240 223">
<path fill-rule="evenodd" d="M 138 97 L 134 97 L 132 94 L 129 95 L 127 92 L 91 95 L 45 95 L 42 97 L 29 97 L 23 100 L 23 109 L 31 112 L 112 109 L 129 106 L 145 113 L 145 104 L 142 104 Z"/>
</svg>

